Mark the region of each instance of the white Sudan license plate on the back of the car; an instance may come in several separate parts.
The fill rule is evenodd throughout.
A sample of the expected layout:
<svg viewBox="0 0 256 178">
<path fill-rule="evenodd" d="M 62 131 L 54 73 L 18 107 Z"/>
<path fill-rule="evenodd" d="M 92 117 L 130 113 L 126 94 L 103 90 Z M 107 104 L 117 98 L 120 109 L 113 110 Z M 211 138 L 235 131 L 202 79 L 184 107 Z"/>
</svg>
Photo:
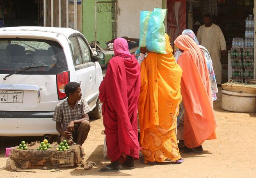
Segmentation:
<svg viewBox="0 0 256 178">
<path fill-rule="evenodd" d="M 0 90 L 0 103 L 23 103 L 23 91 Z"/>
</svg>

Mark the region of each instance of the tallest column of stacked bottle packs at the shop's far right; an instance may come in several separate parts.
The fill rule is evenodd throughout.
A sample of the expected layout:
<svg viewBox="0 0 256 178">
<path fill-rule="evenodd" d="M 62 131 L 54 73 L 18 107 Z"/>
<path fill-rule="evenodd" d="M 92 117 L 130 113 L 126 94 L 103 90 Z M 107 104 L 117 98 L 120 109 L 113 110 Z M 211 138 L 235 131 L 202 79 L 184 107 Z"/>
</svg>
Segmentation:
<svg viewBox="0 0 256 178">
<path fill-rule="evenodd" d="M 254 71 L 254 17 L 245 20 L 245 47 L 243 48 L 243 67 L 245 83 L 253 78 Z"/>
</svg>

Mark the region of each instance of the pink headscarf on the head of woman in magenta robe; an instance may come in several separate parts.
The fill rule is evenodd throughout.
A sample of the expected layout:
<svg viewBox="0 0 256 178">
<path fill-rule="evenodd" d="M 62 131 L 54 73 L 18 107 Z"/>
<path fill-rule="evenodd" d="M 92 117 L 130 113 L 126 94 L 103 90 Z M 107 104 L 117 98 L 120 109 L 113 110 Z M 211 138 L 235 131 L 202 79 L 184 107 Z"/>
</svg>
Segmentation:
<svg viewBox="0 0 256 178">
<path fill-rule="evenodd" d="M 114 41 L 113 45 L 114 56 L 119 56 L 123 58 L 131 58 L 131 54 L 129 52 L 128 43 L 124 38 L 117 38 Z"/>
</svg>

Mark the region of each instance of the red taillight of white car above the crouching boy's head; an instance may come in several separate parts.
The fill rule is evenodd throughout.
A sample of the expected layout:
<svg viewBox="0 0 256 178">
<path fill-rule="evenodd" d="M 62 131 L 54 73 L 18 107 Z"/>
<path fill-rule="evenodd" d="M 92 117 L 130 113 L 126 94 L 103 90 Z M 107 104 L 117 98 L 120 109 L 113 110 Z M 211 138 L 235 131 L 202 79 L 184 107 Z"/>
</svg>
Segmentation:
<svg viewBox="0 0 256 178">
<path fill-rule="evenodd" d="M 65 85 L 69 83 L 69 71 L 57 74 L 57 92 L 59 100 L 66 98 Z"/>
</svg>

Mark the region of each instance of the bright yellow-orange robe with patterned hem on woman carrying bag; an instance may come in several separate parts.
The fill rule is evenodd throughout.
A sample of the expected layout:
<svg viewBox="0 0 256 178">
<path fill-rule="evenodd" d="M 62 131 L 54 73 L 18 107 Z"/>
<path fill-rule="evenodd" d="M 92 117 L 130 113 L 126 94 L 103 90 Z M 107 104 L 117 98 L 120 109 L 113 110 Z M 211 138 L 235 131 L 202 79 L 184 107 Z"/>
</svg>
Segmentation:
<svg viewBox="0 0 256 178">
<path fill-rule="evenodd" d="M 139 93 L 140 146 L 147 162 L 183 162 L 176 139 L 181 103 L 181 67 L 167 34 L 166 54 L 149 52 L 141 63 Z"/>
</svg>

